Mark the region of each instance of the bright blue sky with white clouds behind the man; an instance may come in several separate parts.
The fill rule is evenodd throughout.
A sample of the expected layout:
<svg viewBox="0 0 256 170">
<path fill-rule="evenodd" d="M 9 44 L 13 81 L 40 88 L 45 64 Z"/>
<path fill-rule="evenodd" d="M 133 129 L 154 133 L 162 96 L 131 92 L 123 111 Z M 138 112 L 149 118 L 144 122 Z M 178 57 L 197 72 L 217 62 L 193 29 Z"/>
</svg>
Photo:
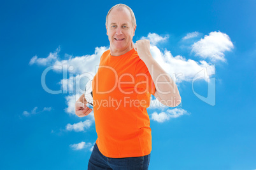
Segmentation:
<svg viewBox="0 0 256 170">
<path fill-rule="evenodd" d="M 64 85 L 93 74 L 117 3 L 134 11 L 134 42 L 151 39 L 153 57 L 182 74 L 180 107 L 148 108 L 150 169 L 256 169 L 256 1 L 223 0 L 1 1 L 0 169 L 87 169 L 93 114 L 77 117 L 73 86 Z M 74 69 L 67 81 L 65 70 L 47 72 L 46 86 L 62 90 L 54 95 L 41 75 L 57 64 Z M 193 81 L 206 67 L 212 75 Z M 208 84 L 215 93 L 203 101 L 195 94 L 207 97 Z"/>
</svg>

